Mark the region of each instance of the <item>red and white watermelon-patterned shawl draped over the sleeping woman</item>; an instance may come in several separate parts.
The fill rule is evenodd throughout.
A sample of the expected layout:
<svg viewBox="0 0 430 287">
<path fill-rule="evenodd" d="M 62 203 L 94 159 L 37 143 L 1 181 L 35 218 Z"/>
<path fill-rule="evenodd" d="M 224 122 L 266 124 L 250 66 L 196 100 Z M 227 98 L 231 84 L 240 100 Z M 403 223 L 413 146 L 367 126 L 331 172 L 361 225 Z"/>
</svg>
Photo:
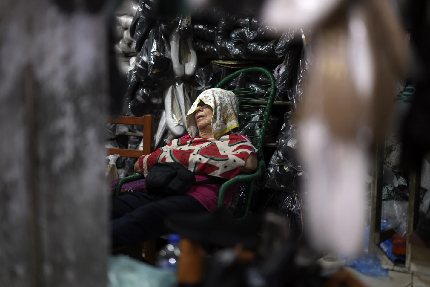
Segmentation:
<svg viewBox="0 0 430 287">
<path fill-rule="evenodd" d="M 179 162 L 196 174 L 232 179 L 242 172 L 249 154 L 256 152 L 244 136 L 174 139 L 163 148 L 139 158 L 144 176 L 158 162 Z"/>
</svg>

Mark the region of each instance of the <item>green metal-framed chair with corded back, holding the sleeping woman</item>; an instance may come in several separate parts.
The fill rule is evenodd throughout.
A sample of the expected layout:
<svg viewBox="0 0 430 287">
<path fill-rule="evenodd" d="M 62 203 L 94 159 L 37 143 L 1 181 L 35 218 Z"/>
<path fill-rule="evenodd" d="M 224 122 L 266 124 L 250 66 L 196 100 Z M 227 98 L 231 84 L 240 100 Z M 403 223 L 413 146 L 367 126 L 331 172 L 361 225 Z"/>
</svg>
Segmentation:
<svg viewBox="0 0 430 287">
<path fill-rule="evenodd" d="M 257 86 L 257 87 L 264 87 L 264 86 L 270 87 L 270 90 L 268 90 L 267 92 L 256 92 L 256 91 L 252 91 L 250 88 L 231 90 L 235 94 L 240 93 L 240 95 L 237 96 L 237 99 L 240 104 L 240 112 L 242 113 L 245 112 L 251 115 L 258 115 L 258 114 L 260 115 L 260 119 L 257 121 L 252 121 L 252 120 L 246 121 L 246 119 L 240 117 L 239 123 L 242 123 L 242 124 L 260 123 L 260 127 L 250 128 L 246 130 L 259 131 L 258 136 L 248 136 L 248 137 L 251 138 L 251 140 L 255 140 L 255 138 L 257 138 L 257 143 L 255 145 L 255 147 L 257 148 L 257 158 L 261 158 L 261 149 L 263 147 L 264 136 L 266 134 L 267 121 L 269 120 L 270 111 L 272 110 L 273 99 L 275 98 L 275 91 L 276 91 L 275 78 L 273 77 L 273 74 L 270 73 L 270 71 L 268 71 L 265 68 L 261 68 L 261 67 L 245 68 L 228 75 L 223 80 L 221 80 L 218 83 L 218 85 L 215 86 L 215 88 L 223 88 L 227 86 L 228 83 L 230 83 L 234 78 L 238 77 L 241 73 L 261 73 L 266 75 L 270 80 L 270 84 Z M 261 97 L 259 99 L 255 99 L 255 98 L 251 99 L 250 97 L 252 97 L 252 94 L 256 94 L 256 93 L 259 93 L 259 94 L 264 93 L 264 97 Z M 256 108 L 257 109 L 264 108 L 264 112 L 263 113 L 255 112 Z M 227 191 L 228 188 L 230 188 L 231 186 L 237 183 L 249 182 L 248 188 L 246 190 L 245 208 L 241 219 L 245 218 L 249 213 L 249 209 L 251 208 L 252 194 L 254 192 L 255 181 L 258 180 L 263 175 L 263 173 L 264 173 L 264 160 L 260 160 L 258 162 L 258 167 L 255 169 L 253 173 L 240 174 L 234 177 L 233 179 L 230 179 L 230 180 L 227 180 L 227 182 L 224 182 L 218 194 L 218 208 L 224 205 L 225 192 Z M 123 179 L 120 179 L 115 188 L 114 195 L 118 196 L 120 194 L 121 187 L 124 183 L 132 182 L 143 178 L 144 177 L 141 174 L 135 173 L 132 176 L 127 176 Z"/>
</svg>

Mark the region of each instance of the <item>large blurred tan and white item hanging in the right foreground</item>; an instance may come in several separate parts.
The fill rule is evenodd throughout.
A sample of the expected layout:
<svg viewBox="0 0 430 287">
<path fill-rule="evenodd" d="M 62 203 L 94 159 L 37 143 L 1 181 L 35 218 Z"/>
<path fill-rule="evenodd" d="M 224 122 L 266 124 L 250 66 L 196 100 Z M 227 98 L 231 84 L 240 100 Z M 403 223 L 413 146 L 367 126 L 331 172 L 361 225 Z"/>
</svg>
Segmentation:
<svg viewBox="0 0 430 287">
<path fill-rule="evenodd" d="M 384 138 L 393 83 L 405 74 L 405 32 L 388 0 L 270 0 L 263 15 L 277 28 L 314 28 L 298 106 L 309 238 L 314 247 L 353 254 L 362 243 L 366 151 Z"/>
</svg>

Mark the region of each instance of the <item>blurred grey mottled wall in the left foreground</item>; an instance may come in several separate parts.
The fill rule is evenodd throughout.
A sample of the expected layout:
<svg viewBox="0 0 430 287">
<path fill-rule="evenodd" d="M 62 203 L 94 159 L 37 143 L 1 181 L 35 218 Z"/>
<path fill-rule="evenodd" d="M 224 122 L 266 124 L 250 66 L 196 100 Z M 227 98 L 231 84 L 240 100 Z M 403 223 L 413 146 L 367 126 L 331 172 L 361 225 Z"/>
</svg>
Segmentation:
<svg viewBox="0 0 430 287">
<path fill-rule="evenodd" d="M 0 1 L 2 287 L 106 286 L 105 23 Z"/>
</svg>

